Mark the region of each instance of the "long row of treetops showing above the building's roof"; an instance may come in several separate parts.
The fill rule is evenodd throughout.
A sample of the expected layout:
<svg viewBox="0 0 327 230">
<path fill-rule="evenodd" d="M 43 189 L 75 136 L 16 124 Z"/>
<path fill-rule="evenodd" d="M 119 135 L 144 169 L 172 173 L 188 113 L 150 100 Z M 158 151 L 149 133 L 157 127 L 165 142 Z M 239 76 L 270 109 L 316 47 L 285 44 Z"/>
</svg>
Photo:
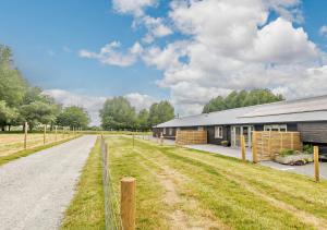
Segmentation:
<svg viewBox="0 0 327 230">
<path fill-rule="evenodd" d="M 246 106 L 262 105 L 283 100 L 282 95 L 275 95 L 269 89 L 253 89 L 250 92 L 233 90 L 227 97 L 218 96 L 203 108 L 203 113 L 221 111 Z"/>
</svg>

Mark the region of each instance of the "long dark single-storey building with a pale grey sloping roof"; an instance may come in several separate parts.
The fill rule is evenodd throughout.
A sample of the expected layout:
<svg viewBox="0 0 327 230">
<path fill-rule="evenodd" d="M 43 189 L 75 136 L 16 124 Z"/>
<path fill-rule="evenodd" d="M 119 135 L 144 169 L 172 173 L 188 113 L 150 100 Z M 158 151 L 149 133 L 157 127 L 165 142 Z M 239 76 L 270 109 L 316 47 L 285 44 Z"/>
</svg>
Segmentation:
<svg viewBox="0 0 327 230">
<path fill-rule="evenodd" d="M 252 131 L 298 131 L 303 143 L 327 146 L 327 95 L 175 118 L 153 132 L 174 140 L 177 130 L 205 130 L 209 144 L 230 146 L 240 146 L 244 135 L 249 147 Z"/>
</svg>

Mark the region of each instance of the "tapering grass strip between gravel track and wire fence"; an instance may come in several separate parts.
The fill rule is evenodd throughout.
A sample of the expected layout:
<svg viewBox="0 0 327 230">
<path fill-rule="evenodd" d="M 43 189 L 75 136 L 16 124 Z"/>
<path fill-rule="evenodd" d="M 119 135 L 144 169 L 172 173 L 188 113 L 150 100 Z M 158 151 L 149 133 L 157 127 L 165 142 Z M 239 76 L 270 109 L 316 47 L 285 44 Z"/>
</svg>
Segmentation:
<svg viewBox="0 0 327 230">
<path fill-rule="evenodd" d="M 62 229 L 105 229 L 101 173 L 100 141 L 97 140 L 83 168 L 76 194 L 65 211 Z"/>
</svg>

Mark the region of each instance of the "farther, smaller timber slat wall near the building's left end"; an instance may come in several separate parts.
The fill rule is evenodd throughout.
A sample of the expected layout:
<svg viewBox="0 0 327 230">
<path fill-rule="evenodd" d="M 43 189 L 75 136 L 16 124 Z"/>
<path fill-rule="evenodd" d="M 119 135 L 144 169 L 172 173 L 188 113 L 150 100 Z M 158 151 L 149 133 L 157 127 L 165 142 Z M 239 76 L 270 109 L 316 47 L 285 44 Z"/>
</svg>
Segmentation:
<svg viewBox="0 0 327 230">
<path fill-rule="evenodd" d="M 175 143 L 178 145 L 207 144 L 207 131 L 177 131 Z"/>
</svg>

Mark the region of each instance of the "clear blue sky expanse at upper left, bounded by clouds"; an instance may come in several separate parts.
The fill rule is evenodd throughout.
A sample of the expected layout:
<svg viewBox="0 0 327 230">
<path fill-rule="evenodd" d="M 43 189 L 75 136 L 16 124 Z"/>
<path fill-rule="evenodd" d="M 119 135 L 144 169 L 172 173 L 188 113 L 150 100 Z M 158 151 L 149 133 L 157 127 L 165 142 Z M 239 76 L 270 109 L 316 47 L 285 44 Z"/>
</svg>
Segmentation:
<svg viewBox="0 0 327 230">
<path fill-rule="evenodd" d="M 130 46 L 140 37 L 131 29 L 132 21 L 114 13 L 108 0 L 2 0 L 0 43 L 13 48 L 16 64 L 29 82 L 44 88 L 97 96 L 137 90 L 165 97 L 165 92 L 154 87 L 160 73 L 153 68 L 138 63 L 128 69 L 108 66 L 76 55 L 110 40 Z"/>
</svg>

